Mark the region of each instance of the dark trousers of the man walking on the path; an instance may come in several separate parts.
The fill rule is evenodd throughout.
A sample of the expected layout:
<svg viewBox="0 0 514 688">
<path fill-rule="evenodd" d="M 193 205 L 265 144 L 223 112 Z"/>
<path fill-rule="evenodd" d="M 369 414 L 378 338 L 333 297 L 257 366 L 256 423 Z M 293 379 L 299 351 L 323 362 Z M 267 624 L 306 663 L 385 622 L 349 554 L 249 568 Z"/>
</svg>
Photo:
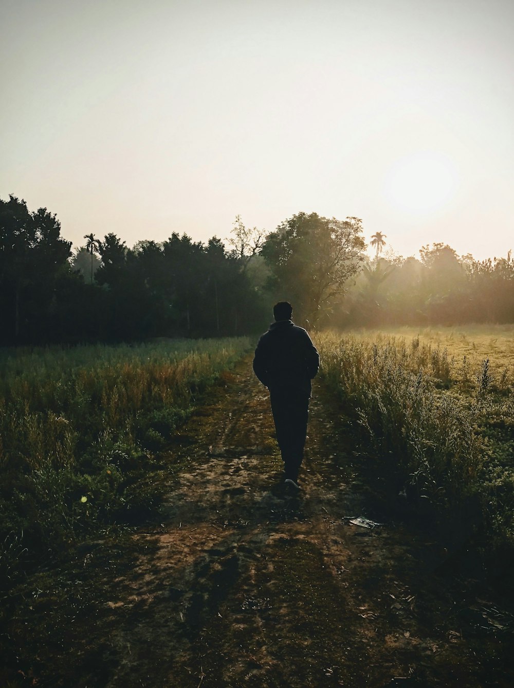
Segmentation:
<svg viewBox="0 0 514 688">
<path fill-rule="evenodd" d="M 271 412 L 286 477 L 296 480 L 304 458 L 309 396 L 298 390 L 272 390 Z"/>
</svg>

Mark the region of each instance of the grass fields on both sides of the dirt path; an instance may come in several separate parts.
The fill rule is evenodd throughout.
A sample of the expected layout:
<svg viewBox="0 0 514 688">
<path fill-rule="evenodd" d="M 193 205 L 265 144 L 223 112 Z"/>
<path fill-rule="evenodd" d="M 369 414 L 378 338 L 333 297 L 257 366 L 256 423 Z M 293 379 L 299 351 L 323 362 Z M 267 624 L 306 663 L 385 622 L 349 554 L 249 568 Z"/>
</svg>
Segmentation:
<svg viewBox="0 0 514 688">
<path fill-rule="evenodd" d="M 406 498 L 514 549 L 514 327 L 316 336 L 322 372 Z M 246 338 L 0 350 L 0 590 L 153 513 L 153 475 Z M 470 537 L 471 537 L 470 535 Z"/>
</svg>

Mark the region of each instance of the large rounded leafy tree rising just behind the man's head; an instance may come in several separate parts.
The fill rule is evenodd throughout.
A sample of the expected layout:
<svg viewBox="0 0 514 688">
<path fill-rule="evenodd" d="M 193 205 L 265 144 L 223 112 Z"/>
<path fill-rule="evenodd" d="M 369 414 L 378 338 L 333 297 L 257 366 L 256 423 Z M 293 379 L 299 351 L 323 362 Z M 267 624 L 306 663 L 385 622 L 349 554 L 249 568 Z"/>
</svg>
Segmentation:
<svg viewBox="0 0 514 688">
<path fill-rule="evenodd" d="M 267 237 L 262 255 L 275 297 L 291 301 L 300 318 L 315 325 L 359 271 L 364 248 L 358 217 L 298 213 Z"/>
</svg>

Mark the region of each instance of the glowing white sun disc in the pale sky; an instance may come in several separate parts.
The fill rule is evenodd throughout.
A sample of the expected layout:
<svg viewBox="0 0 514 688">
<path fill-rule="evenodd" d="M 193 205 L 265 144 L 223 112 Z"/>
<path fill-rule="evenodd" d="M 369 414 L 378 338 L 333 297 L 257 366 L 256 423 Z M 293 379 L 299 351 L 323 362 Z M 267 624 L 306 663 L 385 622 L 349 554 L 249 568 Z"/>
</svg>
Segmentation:
<svg viewBox="0 0 514 688">
<path fill-rule="evenodd" d="M 416 215 L 433 213 L 454 196 L 456 166 L 447 155 L 423 151 L 396 160 L 385 174 L 384 194 L 399 210 Z"/>
</svg>

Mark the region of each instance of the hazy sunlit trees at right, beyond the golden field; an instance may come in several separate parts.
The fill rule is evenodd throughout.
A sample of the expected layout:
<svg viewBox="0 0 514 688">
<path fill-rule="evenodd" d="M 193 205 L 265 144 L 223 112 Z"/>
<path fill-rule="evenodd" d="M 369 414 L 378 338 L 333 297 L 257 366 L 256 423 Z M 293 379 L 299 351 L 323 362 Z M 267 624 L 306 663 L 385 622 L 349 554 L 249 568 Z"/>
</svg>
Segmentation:
<svg viewBox="0 0 514 688">
<path fill-rule="evenodd" d="M 514 258 L 458 256 L 447 244 L 420 259 L 369 261 L 331 319 L 335 325 L 514 322 Z"/>
</svg>

